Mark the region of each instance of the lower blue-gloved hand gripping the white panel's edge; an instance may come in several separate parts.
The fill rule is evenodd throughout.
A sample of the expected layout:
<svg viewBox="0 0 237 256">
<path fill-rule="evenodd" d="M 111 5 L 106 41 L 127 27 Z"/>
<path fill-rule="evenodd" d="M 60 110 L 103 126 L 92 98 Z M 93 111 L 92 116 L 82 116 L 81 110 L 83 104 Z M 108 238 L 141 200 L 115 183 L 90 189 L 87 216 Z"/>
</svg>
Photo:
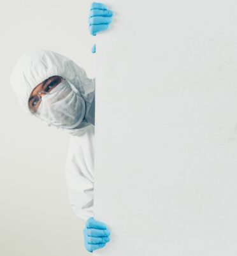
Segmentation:
<svg viewBox="0 0 237 256">
<path fill-rule="evenodd" d="M 110 230 L 103 222 L 97 222 L 93 217 L 85 223 L 84 245 L 88 252 L 103 248 L 110 241 Z"/>
</svg>

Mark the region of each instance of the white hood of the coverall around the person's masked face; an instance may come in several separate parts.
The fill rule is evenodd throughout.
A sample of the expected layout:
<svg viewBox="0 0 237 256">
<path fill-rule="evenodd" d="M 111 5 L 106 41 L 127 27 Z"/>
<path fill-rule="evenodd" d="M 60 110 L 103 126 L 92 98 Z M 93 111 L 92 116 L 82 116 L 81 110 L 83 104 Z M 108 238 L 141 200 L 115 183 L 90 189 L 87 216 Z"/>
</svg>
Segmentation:
<svg viewBox="0 0 237 256">
<path fill-rule="evenodd" d="M 10 76 L 10 83 L 13 87 L 18 102 L 25 112 L 32 114 L 29 110 L 28 100 L 32 90 L 43 80 L 52 76 L 61 76 L 68 80 L 85 100 L 87 111 L 94 106 L 95 82 L 89 79 L 83 68 L 80 68 L 68 57 L 57 52 L 46 49 L 31 50 L 20 56 Z M 77 133 L 78 129 L 88 126 L 90 123 L 83 122 L 70 133 Z"/>
</svg>

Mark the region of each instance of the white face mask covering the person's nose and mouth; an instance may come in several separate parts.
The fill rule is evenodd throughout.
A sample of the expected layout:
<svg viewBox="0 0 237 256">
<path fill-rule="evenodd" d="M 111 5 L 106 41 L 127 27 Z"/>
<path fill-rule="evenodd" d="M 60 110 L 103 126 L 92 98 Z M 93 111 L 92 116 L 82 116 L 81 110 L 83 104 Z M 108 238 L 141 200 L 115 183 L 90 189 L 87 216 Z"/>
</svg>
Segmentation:
<svg viewBox="0 0 237 256">
<path fill-rule="evenodd" d="M 42 96 L 35 115 L 54 126 L 75 128 L 85 116 L 85 101 L 67 80 L 62 80 L 50 93 Z"/>
</svg>

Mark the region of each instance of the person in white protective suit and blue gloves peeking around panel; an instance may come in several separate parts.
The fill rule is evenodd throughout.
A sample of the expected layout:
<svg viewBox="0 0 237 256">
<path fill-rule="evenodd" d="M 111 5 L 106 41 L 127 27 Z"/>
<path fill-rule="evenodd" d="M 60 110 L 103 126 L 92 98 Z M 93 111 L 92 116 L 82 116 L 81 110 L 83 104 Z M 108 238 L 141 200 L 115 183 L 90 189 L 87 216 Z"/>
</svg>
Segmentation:
<svg viewBox="0 0 237 256">
<path fill-rule="evenodd" d="M 92 3 L 90 33 L 108 29 L 112 16 L 104 4 Z M 70 134 L 65 172 L 69 201 L 85 221 L 85 248 L 93 252 L 104 247 L 110 230 L 93 218 L 95 80 L 68 57 L 38 49 L 20 56 L 10 83 L 25 112 Z"/>
</svg>

